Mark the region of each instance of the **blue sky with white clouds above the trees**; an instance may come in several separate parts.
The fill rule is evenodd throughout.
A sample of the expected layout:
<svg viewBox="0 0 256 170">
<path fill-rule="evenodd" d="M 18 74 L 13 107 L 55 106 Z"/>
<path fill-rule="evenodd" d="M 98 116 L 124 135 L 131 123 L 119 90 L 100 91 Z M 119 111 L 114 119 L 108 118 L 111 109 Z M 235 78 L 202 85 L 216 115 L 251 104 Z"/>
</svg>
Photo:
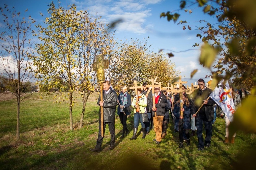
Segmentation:
<svg viewBox="0 0 256 170">
<path fill-rule="evenodd" d="M 16 11 L 23 12 L 28 9 L 27 15 L 31 15 L 37 22 L 42 23 L 48 16 L 48 4 L 52 0 L 2 0 L 1 6 L 7 4 L 9 8 L 15 7 Z M 57 0 L 53 0 L 55 4 Z M 205 78 L 210 71 L 199 65 L 198 57 L 200 48 L 194 48 L 199 37 L 196 37 L 198 31 L 183 30 L 182 25 L 177 25 L 180 20 L 194 21 L 191 25 L 199 25 L 199 20 L 213 21 L 214 17 L 203 14 L 202 8 L 196 5 L 185 8 L 192 10 L 189 14 L 179 9 L 180 0 L 60 0 L 61 6 L 66 7 L 75 3 L 77 10 L 97 11 L 98 16 L 102 16 L 105 23 L 111 23 L 116 19 L 122 19 L 123 22 L 115 28 L 114 38 L 118 41 L 130 41 L 132 39 L 148 40 L 151 45 L 150 50 L 157 52 L 163 49 L 164 52 L 172 52 L 175 56 L 170 58 L 174 62 L 176 69 L 180 70 L 183 81 L 188 81 L 186 85 L 195 84 L 199 78 L 209 81 Z M 94 11 L 95 10 L 95 11 Z M 168 22 L 166 18 L 160 18 L 162 12 L 174 11 L 181 14 L 176 23 Z M 42 17 L 40 12 L 44 14 Z M 91 13 L 91 14 L 94 14 Z M 149 37 L 149 38 L 148 38 Z M 185 52 L 181 52 L 185 51 Z M 199 71 L 190 79 L 190 73 L 194 69 Z M 152 77 L 153 78 L 153 77 Z"/>
</svg>

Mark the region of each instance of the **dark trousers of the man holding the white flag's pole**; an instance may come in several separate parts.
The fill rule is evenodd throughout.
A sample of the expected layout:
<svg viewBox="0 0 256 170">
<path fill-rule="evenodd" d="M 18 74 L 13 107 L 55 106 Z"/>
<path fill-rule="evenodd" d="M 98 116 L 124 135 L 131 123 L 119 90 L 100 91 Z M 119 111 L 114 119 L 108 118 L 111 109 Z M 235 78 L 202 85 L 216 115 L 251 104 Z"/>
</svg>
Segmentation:
<svg viewBox="0 0 256 170">
<path fill-rule="evenodd" d="M 207 121 L 206 116 L 198 116 L 197 117 L 197 139 L 198 139 L 198 148 L 203 148 L 203 124 L 205 126 L 206 136 L 205 136 L 205 144 L 211 143 L 212 138 L 212 121 Z"/>
</svg>

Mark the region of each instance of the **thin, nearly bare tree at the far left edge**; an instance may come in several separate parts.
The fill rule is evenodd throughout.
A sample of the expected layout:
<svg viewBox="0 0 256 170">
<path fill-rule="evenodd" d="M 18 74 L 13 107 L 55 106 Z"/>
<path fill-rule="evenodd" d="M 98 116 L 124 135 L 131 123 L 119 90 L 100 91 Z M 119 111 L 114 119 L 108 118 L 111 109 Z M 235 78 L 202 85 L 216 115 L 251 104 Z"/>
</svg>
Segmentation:
<svg viewBox="0 0 256 170">
<path fill-rule="evenodd" d="M 29 37 L 33 33 L 31 24 L 35 21 L 30 16 L 29 18 L 22 17 L 21 13 L 16 12 L 14 8 L 9 10 L 6 4 L 3 8 L 0 7 L 0 10 L 4 16 L 0 26 L 0 72 L 7 79 L 9 90 L 17 99 L 16 139 L 18 140 L 20 102 L 25 95 L 22 89 L 33 77 L 33 73 L 30 71 L 33 43 Z"/>
</svg>

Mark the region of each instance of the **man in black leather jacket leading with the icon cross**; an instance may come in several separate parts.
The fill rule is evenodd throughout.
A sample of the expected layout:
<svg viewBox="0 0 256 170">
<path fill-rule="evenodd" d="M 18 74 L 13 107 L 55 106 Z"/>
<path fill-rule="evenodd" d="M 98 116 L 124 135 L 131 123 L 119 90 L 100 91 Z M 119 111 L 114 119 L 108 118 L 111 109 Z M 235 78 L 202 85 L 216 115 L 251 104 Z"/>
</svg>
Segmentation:
<svg viewBox="0 0 256 170">
<path fill-rule="evenodd" d="M 117 105 L 117 94 L 114 90 L 110 88 L 110 81 L 104 81 L 103 82 L 103 101 L 100 101 L 100 97 L 98 99 L 97 104 L 99 106 L 103 106 L 103 127 L 104 132 L 103 136 L 105 134 L 106 124 L 109 126 L 109 132 L 111 135 L 110 139 L 110 147 L 109 150 L 114 149 L 115 147 L 115 112 L 116 112 L 116 105 Z M 101 144 L 103 141 L 103 138 L 101 136 L 101 116 L 100 116 L 100 110 L 99 110 L 99 134 L 98 139 L 96 142 L 96 146 L 94 149 L 90 149 L 93 152 L 100 152 L 101 151 Z"/>
</svg>

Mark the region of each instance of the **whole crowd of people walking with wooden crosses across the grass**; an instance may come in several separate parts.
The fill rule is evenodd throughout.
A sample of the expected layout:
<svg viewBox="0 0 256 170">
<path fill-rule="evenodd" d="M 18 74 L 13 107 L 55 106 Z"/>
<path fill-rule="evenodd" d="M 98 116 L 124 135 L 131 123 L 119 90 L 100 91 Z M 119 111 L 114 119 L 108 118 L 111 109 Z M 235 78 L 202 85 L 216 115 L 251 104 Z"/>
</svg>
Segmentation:
<svg viewBox="0 0 256 170">
<path fill-rule="evenodd" d="M 123 125 L 123 130 L 120 138 L 124 138 L 125 134 L 130 133 L 127 128 L 127 116 L 131 115 L 131 108 L 134 109 L 133 118 L 133 135 L 130 140 L 137 139 L 137 131 L 139 122 L 142 128 L 142 139 L 146 138 L 150 129 L 154 129 L 155 139 L 153 141 L 159 145 L 162 139 L 167 134 L 167 127 L 170 117 L 174 121 L 174 132 L 179 132 L 179 148 L 183 148 L 183 143 L 190 145 L 190 137 L 197 135 L 198 138 L 198 150 L 202 151 L 205 147 L 211 146 L 212 138 L 212 125 L 216 120 L 217 104 L 214 100 L 209 98 L 212 90 L 205 86 L 205 81 L 199 79 L 197 81 L 199 88 L 196 89 L 193 94 L 182 93 L 182 107 L 180 94 L 177 93 L 172 101 L 171 95 L 167 92 L 161 91 L 161 87 L 154 87 L 154 93 L 147 87 L 147 83 L 142 84 L 142 89 L 136 89 L 138 95 L 131 99 L 131 95 L 128 94 L 128 88 L 123 86 L 120 90 L 120 94 L 110 88 L 110 81 L 103 82 L 103 100 L 101 96 L 98 99 L 97 104 L 100 107 L 99 110 L 99 133 L 96 141 L 96 146 L 90 149 L 93 152 L 100 152 L 101 145 L 104 138 L 106 124 L 108 124 L 109 132 L 111 134 L 109 150 L 115 147 L 115 112 L 117 107 L 117 114 L 119 115 L 120 122 Z M 182 90 L 186 87 L 183 85 Z M 241 93 L 234 92 L 234 88 L 230 86 L 230 93 L 236 108 L 241 105 L 241 99 L 246 98 L 247 92 L 242 89 Z M 103 120 L 101 120 L 101 108 L 103 108 Z M 180 113 L 183 112 L 183 114 Z M 222 113 L 223 115 L 224 113 Z M 139 121 L 140 120 L 140 121 Z M 103 130 L 101 131 L 101 121 L 103 121 Z M 234 143 L 233 138 L 229 140 L 229 124 L 230 121 L 225 116 L 226 122 L 226 134 L 224 143 Z M 205 138 L 203 138 L 203 124 L 205 129 Z M 196 133 L 195 133 L 195 130 Z M 189 133 L 191 131 L 191 134 Z M 103 133 L 103 135 L 102 135 Z"/>
</svg>

